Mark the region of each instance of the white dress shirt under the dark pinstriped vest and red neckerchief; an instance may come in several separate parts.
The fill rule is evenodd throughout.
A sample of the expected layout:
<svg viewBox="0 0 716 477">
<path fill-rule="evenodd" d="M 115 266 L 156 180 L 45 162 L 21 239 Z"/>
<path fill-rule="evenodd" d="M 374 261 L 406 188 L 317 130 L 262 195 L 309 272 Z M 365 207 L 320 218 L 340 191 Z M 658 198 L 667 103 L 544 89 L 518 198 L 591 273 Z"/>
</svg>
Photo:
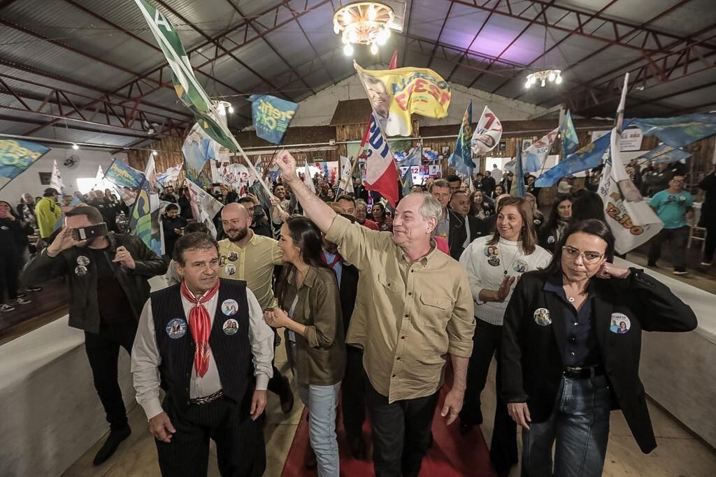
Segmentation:
<svg viewBox="0 0 716 477">
<path fill-rule="evenodd" d="M 217 292 L 211 300 L 204 303 L 212 328 L 218 295 Z M 266 325 L 263 320 L 261 306 L 258 305 L 258 300 L 248 288 L 246 288 L 246 299 L 248 300 L 248 340 L 251 343 L 251 353 L 253 354 L 253 375 L 256 376 L 256 389 L 266 390 L 269 385 L 269 379 L 274 375 L 274 368 L 271 365 L 271 360 L 274 359 L 274 330 L 271 330 L 271 327 Z M 183 296 L 181 297 L 181 302 L 188 322 L 189 312 L 194 305 Z M 190 330 L 187 330 L 187 333 L 191 333 Z M 150 298 L 142 310 L 137 336 L 132 347 L 132 377 L 137 391 L 137 403 L 140 403 L 144 408 L 147 419 L 151 419 L 163 412 L 162 403 L 159 399 L 161 383 L 159 365 L 161 361 L 152 317 L 152 300 Z M 189 385 L 190 398 L 203 398 L 216 393 L 221 388 L 221 379 L 219 378 L 213 355 L 209 357 L 209 368 L 203 378 L 196 374 L 196 370 L 192 366 Z"/>
</svg>

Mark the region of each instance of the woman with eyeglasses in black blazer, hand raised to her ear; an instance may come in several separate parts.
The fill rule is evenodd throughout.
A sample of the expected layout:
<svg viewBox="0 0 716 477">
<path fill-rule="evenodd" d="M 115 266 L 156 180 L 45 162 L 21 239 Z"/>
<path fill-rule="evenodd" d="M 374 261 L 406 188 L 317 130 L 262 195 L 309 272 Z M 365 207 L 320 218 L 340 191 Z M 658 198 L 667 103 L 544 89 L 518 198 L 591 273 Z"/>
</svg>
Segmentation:
<svg viewBox="0 0 716 477">
<path fill-rule="evenodd" d="M 690 331 L 696 316 L 669 287 L 613 257 L 609 227 L 584 220 L 565 230 L 545 270 L 515 287 L 501 395 L 523 427 L 523 476 L 601 476 L 611 409 L 621 408 L 644 453 L 657 446 L 639 380 L 642 331 Z"/>
</svg>

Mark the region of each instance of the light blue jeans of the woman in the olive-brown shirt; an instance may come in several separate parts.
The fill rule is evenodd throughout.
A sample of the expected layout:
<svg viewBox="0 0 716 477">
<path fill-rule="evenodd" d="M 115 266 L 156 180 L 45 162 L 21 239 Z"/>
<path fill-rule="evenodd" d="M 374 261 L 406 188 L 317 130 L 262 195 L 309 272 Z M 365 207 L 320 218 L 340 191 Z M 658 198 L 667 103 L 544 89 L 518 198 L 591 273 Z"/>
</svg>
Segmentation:
<svg viewBox="0 0 716 477">
<path fill-rule="evenodd" d="M 340 381 L 329 386 L 299 385 L 299 397 L 309 409 L 309 438 L 319 477 L 339 476 L 336 412 L 340 388 Z"/>
</svg>

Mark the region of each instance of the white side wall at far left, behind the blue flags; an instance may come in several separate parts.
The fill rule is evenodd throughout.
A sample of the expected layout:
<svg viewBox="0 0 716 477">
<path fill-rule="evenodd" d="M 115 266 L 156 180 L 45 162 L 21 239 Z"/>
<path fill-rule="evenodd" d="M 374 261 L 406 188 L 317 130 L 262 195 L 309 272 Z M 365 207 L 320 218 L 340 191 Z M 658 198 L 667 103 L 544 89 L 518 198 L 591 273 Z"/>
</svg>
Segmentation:
<svg viewBox="0 0 716 477">
<path fill-rule="evenodd" d="M 74 169 L 68 169 L 62 164 L 67 157 L 72 155 L 79 157 L 79 164 Z M 59 167 L 59 173 L 62 175 L 62 182 L 64 182 L 64 192 L 72 194 L 77 190 L 78 177 L 95 177 L 97 175 L 97 166 L 100 165 L 106 172 L 114 157 L 127 161 L 127 154 L 124 153 L 110 155 L 109 152 L 103 151 L 83 149 L 75 151 L 74 149 L 62 149 L 59 147 L 52 148 L 1 190 L 0 199 L 10 202 L 11 205 L 16 205 L 20 201 L 20 196 L 25 192 L 29 192 L 35 197 L 41 196 L 42 191 L 49 186 L 40 184 L 38 172 L 52 172 L 53 160 L 57 160 L 57 167 Z M 0 177 L 0 181 L 0 187 L 8 182 L 5 177 Z"/>
</svg>

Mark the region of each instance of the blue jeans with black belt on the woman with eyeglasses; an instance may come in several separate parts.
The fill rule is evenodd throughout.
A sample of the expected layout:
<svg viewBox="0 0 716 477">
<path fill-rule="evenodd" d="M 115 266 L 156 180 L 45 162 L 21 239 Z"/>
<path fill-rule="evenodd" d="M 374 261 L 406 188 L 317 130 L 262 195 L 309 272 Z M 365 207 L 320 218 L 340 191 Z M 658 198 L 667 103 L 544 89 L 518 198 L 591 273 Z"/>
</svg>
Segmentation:
<svg viewBox="0 0 716 477">
<path fill-rule="evenodd" d="M 605 376 L 562 378 L 552 415 L 522 431 L 522 476 L 601 476 L 610 409 Z"/>
</svg>

